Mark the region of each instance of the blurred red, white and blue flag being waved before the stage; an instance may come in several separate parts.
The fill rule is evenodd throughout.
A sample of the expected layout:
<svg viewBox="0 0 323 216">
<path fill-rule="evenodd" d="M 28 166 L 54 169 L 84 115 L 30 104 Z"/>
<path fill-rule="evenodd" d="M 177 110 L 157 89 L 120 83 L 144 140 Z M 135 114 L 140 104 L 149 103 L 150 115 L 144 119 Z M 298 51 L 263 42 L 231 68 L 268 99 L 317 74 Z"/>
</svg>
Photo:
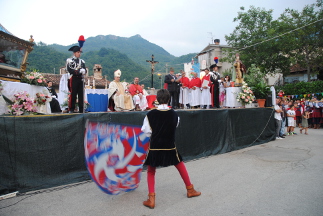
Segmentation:
<svg viewBox="0 0 323 216">
<path fill-rule="evenodd" d="M 88 121 L 85 160 L 92 180 L 101 190 L 117 195 L 139 186 L 149 147 L 139 126 Z"/>
</svg>

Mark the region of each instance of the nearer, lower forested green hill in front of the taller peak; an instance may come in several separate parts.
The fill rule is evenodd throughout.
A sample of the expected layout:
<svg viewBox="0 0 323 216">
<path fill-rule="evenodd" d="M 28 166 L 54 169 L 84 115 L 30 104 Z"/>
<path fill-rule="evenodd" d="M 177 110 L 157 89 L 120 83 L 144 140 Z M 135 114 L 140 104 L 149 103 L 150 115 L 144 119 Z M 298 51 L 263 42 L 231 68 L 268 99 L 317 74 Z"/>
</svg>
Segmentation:
<svg viewBox="0 0 323 216">
<path fill-rule="evenodd" d="M 42 73 L 59 73 L 59 68 L 64 67 L 66 59 L 71 57 L 71 53 L 62 53 L 45 44 L 34 46 L 34 50 L 28 57 L 28 71 L 37 70 Z M 90 51 L 82 54 L 85 66 L 89 68 L 89 74 L 93 75 L 94 64 L 101 64 L 102 75 L 108 80 L 113 80 L 113 72 L 117 69 L 122 71 L 122 80 L 131 82 L 135 76 L 143 78 L 150 74 L 148 68 L 136 64 L 127 55 L 114 49 L 101 48 L 99 51 Z M 54 69 L 55 68 L 55 69 Z M 148 84 L 148 82 L 147 82 Z"/>
</svg>

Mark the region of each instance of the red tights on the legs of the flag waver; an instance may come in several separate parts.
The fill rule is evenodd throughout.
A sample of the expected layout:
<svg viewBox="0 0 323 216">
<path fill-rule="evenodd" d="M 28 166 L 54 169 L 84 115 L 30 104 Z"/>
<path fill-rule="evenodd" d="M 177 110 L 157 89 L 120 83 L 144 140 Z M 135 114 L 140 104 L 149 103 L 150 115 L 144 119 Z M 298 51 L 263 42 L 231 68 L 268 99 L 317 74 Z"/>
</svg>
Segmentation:
<svg viewBox="0 0 323 216">
<path fill-rule="evenodd" d="M 190 186 L 191 180 L 186 170 L 186 166 L 184 162 L 182 161 L 178 163 L 177 165 L 175 165 L 175 167 L 178 170 L 179 174 L 181 175 L 185 185 Z M 148 165 L 147 182 L 148 182 L 149 193 L 155 193 L 155 173 L 156 173 L 156 167 L 152 167 Z"/>
</svg>

